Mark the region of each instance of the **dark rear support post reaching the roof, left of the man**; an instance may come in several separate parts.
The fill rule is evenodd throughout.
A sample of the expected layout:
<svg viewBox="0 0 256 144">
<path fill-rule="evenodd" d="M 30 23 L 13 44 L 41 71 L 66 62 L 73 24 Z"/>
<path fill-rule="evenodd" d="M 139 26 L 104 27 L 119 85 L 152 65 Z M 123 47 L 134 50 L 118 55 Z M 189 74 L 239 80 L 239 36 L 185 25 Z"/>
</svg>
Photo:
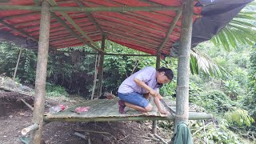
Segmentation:
<svg viewBox="0 0 256 144">
<path fill-rule="evenodd" d="M 102 35 L 102 50 L 105 49 L 105 34 Z M 102 95 L 102 78 L 103 78 L 103 63 L 104 63 L 104 53 L 99 52 L 100 54 L 100 61 L 99 61 L 99 67 L 98 67 L 98 97 Z"/>
</svg>

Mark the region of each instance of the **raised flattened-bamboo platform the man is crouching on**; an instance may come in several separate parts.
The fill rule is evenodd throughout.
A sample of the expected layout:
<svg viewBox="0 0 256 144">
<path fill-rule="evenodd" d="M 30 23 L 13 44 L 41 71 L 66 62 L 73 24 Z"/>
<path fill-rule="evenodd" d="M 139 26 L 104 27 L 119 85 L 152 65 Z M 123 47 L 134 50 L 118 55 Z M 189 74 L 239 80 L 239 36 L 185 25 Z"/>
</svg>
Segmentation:
<svg viewBox="0 0 256 144">
<path fill-rule="evenodd" d="M 175 110 L 175 102 L 166 100 L 168 106 Z M 110 121 L 143 121 L 143 120 L 174 120 L 173 115 L 162 115 L 158 112 L 157 107 L 154 105 L 153 99 L 151 100 L 154 109 L 149 113 L 140 113 L 137 110 L 129 109 L 126 106 L 126 114 L 119 114 L 118 112 L 118 98 L 114 99 L 97 99 L 85 101 L 81 104 L 70 106 L 62 112 L 56 114 L 45 114 L 45 122 L 110 122 Z M 77 114 L 74 112 L 78 106 L 90 106 L 90 110 L 84 114 Z M 164 108 L 164 106 L 162 106 Z M 164 108 L 165 109 L 165 108 Z M 190 110 L 189 119 L 210 119 L 211 114 L 197 113 Z"/>
</svg>

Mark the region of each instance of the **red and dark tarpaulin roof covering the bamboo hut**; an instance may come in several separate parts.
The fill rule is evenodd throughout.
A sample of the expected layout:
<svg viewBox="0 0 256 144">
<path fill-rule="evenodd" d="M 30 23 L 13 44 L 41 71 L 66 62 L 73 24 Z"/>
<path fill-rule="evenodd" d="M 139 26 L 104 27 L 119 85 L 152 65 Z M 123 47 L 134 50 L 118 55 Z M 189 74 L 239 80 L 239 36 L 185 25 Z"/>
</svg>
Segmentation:
<svg viewBox="0 0 256 144">
<path fill-rule="evenodd" d="M 192 46 L 209 40 L 252 0 L 194 2 Z M 148 54 L 177 54 L 182 0 L 47 0 L 50 46 L 65 48 L 106 39 Z M 15 7 L 16 6 L 16 7 Z M 38 46 L 38 0 L 0 2 L 0 40 Z M 171 52 L 170 52 L 171 51 Z"/>
</svg>

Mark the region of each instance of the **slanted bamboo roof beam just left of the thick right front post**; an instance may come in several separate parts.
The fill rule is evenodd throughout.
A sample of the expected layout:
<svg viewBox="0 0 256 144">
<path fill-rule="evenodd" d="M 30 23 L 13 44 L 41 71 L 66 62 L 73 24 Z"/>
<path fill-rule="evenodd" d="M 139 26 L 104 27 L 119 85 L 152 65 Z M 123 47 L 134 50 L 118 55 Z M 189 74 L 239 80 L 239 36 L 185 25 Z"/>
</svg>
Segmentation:
<svg viewBox="0 0 256 144">
<path fill-rule="evenodd" d="M 158 50 L 157 50 L 158 53 L 160 53 L 162 48 L 163 48 L 163 46 L 165 46 L 167 40 L 169 39 L 169 36 L 170 36 L 171 32 L 174 30 L 174 26 L 178 22 L 178 19 L 181 17 L 181 15 L 182 15 L 182 9 L 177 11 L 177 16 L 174 18 L 174 21 L 170 24 L 170 28 L 168 29 L 168 32 L 166 34 L 166 38 L 161 43 L 161 46 L 158 47 Z"/>
</svg>

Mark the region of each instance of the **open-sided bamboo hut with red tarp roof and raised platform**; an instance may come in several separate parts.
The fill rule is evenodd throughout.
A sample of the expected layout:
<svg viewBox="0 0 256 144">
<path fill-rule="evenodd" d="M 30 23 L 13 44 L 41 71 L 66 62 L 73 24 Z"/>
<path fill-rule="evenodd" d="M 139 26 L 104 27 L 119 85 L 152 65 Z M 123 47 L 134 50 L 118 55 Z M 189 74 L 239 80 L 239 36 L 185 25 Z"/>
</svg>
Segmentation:
<svg viewBox="0 0 256 144">
<path fill-rule="evenodd" d="M 2 0 L 0 39 L 38 49 L 31 143 L 40 143 L 45 122 L 137 121 L 207 119 L 210 114 L 189 112 L 190 48 L 222 30 L 252 0 Z M 176 114 L 118 114 L 117 100 L 85 102 L 93 109 L 78 115 L 65 110 L 44 115 L 46 68 L 49 50 L 90 46 L 101 55 L 99 88 L 102 87 L 104 43 L 112 42 L 157 57 L 178 58 Z M 99 47 L 95 42 L 102 41 Z M 101 90 L 101 89 L 100 89 Z M 83 104 L 81 104 L 84 106 Z M 107 109 L 106 109 L 107 108 Z M 104 112 L 103 112 L 104 111 Z"/>
</svg>

